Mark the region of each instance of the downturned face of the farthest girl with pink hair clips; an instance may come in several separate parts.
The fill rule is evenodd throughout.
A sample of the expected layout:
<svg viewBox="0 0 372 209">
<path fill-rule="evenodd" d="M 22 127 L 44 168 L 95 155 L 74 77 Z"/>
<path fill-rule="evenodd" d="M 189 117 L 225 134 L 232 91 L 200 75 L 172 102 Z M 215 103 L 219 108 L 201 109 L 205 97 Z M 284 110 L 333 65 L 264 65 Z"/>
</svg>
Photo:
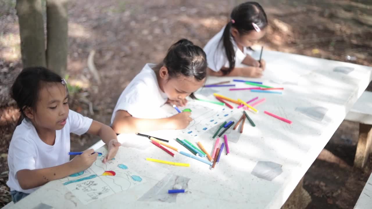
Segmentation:
<svg viewBox="0 0 372 209">
<path fill-rule="evenodd" d="M 258 40 L 260 40 L 265 35 L 265 33 L 265 30 L 260 30 L 260 32 L 251 30 L 248 33 L 239 33 L 236 28 L 231 29 L 231 35 L 232 37 L 234 37 L 236 44 L 243 47 L 252 46 Z"/>
</svg>

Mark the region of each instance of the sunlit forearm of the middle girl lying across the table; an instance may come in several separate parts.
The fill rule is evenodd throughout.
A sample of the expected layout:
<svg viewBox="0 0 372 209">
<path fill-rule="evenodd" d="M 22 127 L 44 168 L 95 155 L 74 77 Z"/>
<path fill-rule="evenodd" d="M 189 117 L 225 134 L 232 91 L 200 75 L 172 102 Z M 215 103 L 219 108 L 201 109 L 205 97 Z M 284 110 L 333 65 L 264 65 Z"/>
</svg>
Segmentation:
<svg viewBox="0 0 372 209">
<path fill-rule="evenodd" d="M 178 113 L 169 118 L 142 119 L 134 118 L 125 110 L 118 110 L 112 123 L 112 129 L 117 134 L 157 131 L 164 129 L 184 129 L 192 118 L 190 112 Z"/>
</svg>

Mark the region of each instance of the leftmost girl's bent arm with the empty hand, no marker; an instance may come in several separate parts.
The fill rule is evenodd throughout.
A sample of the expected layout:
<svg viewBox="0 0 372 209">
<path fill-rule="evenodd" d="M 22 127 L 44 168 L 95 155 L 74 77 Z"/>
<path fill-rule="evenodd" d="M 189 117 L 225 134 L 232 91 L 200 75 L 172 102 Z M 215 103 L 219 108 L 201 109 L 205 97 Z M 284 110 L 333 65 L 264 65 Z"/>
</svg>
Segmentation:
<svg viewBox="0 0 372 209">
<path fill-rule="evenodd" d="M 93 120 L 92 125 L 90 125 L 87 133 L 99 136 L 102 141 L 105 142 L 105 144 L 108 146 L 109 152 L 103 159 L 103 163 L 106 163 L 108 160 L 115 157 L 116 152 L 118 152 L 121 144 L 118 142 L 118 137 L 116 136 L 112 128 L 110 128 L 110 126 Z"/>
</svg>

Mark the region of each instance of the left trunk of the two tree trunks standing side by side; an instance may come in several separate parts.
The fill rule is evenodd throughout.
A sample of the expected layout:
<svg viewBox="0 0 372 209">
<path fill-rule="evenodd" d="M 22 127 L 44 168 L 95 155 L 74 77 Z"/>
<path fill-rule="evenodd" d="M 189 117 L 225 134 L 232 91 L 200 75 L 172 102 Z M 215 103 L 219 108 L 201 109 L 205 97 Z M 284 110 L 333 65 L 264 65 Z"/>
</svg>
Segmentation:
<svg viewBox="0 0 372 209">
<path fill-rule="evenodd" d="M 46 67 L 41 0 L 17 0 L 23 67 Z"/>
</svg>

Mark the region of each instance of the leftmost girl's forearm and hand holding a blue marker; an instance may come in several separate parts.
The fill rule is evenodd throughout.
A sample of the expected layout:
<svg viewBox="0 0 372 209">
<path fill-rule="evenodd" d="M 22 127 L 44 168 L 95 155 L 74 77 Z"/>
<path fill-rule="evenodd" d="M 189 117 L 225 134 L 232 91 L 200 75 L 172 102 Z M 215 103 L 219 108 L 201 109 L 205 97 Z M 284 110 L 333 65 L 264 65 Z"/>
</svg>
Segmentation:
<svg viewBox="0 0 372 209">
<path fill-rule="evenodd" d="M 24 190 L 32 189 L 42 186 L 49 181 L 62 179 L 71 174 L 86 170 L 96 161 L 98 154 L 92 154 L 93 152 L 93 149 L 88 149 L 83 154 L 76 155 L 73 160 L 54 167 L 19 170 L 16 174 L 19 186 Z"/>
</svg>

